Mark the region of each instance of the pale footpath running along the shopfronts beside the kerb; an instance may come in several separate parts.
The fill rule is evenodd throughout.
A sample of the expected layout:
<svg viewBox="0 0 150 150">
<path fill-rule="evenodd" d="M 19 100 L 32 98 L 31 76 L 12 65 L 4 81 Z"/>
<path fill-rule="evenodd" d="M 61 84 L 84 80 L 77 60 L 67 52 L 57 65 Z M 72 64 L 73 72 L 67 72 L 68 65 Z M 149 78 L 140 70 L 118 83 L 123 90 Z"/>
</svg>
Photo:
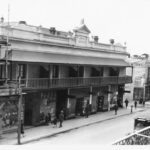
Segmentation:
<svg viewBox="0 0 150 150">
<path fill-rule="evenodd" d="M 136 109 L 133 108 L 132 113 L 137 113 L 140 111 L 144 111 L 146 109 L 150 109 L 150 103 L 145 104 L 145 107 L 139 105 Z M 94 115 L 90 115 L 89 118 L 80 117 L 71 120 L 65 120 L 63 122 L 63 127 L 53 127 L 53 125 L 45 125 L 39 127 L 32 127 L 25 129 L 25 136 L 21 136 L 21 144 L 27 144 L 30 142 L 38 141 L 40 139 L 49 138 L 52 136 L 56 136 L 61 133 L 69 132 L 71 130 L 75 130 L 81 127 L 89 126 L 92 124 L 100 123 L 103 121 L 115 119 L 117 117 L 131 115 L 131 106 L 128 106 L 126 109 L 120 108 L 118 110 L 117 115 L 115 115 L 114 110 L 107 111 L 107 112 L 98 112 Z M 6 134 L 2 134 L 0 137 L 0 145 L 16 145 L 17 144 L 17 133 L 10 132 Z"/>
</svg>

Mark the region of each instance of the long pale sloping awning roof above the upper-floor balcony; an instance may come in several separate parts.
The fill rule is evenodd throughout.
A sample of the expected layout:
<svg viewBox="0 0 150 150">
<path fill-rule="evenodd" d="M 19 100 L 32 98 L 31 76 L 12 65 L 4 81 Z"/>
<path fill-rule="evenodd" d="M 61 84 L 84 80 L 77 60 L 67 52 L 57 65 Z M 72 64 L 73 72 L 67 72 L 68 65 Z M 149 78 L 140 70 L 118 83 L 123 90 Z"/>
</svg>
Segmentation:
<svg viewBox="0 0 150 150">
<path fill-rule="evenodd" d="M 9 60 L 24 62 L 44 62 L 60 64 L 102 65 L 102 66 L 130 66 L 123 59 L 76 56 L 65 54 L 41 53 L 13 50 Z"/>
</svg>

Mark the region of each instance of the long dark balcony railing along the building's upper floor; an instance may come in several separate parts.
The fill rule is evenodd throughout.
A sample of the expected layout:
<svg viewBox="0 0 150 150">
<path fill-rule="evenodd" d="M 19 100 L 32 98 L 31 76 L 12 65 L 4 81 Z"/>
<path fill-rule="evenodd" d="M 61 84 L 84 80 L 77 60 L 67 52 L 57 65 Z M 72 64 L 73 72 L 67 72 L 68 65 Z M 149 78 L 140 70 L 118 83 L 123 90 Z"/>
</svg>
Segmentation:
<svg viewBox="0 0 150 150">
<path fill-rule="evenodd" d="M 32 78 L 22 79 L 21 84 L 27 89 L 47 89 L 47 88 L 67 88 L 67 87 L 84 87 L 84 86 L 99 86 L 109 84 L 125 84 L 131 83 L 132 77 L 91 77 L 91 78 L 63 78 L 63 79 L 48 79 L 48 78 Z"/>
</svg>

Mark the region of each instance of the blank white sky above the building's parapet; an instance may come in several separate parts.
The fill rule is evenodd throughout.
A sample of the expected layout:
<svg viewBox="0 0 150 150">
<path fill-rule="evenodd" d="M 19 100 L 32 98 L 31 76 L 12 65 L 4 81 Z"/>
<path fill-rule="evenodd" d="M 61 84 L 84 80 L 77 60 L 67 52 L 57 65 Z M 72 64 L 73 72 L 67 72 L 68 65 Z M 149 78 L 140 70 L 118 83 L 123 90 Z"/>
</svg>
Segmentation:
<svg viewBox="0 0 150 150">
<path fill-rule="evenodd" d="M 0 0 L 0 17 L 72 31 L 81 19 L 100 43 L 126 43 L 131 54 L 150 54 L 150 0 Z"/>
</svg>

